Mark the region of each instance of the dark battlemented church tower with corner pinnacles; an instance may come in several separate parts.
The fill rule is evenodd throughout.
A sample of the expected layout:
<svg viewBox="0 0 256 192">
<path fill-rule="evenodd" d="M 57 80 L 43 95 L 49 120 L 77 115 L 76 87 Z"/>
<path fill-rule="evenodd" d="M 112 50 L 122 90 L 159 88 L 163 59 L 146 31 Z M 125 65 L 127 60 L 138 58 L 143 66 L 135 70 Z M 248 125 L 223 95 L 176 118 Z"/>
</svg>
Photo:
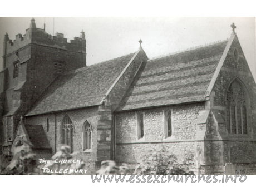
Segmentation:
<svg viewBox="0 0 256 192">
<path fill-rule="evenodd" d="M 62 33 L 51 36 L 36 28 L 33 18 L 26 34 L 3 42 L 3 71 L 0 72 L 0 153 L 8 153 L 20 117 L 61 73 L 86 66 L 86 40 L 67 42 Z"/>
</svg>

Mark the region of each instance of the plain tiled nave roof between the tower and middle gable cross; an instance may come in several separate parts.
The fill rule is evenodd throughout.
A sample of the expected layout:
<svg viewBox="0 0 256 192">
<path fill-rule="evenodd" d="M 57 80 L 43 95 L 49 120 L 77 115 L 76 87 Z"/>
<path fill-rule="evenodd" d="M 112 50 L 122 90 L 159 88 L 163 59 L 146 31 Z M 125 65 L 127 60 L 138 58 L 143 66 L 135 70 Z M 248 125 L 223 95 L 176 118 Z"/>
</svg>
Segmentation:
<svg viewBox="0 0 256 192">
<path fill-rule="evenodd" d="M 99 105 L 134 55 L 131 53 L 59 76 L 27 116 Z"/>
</svg>

